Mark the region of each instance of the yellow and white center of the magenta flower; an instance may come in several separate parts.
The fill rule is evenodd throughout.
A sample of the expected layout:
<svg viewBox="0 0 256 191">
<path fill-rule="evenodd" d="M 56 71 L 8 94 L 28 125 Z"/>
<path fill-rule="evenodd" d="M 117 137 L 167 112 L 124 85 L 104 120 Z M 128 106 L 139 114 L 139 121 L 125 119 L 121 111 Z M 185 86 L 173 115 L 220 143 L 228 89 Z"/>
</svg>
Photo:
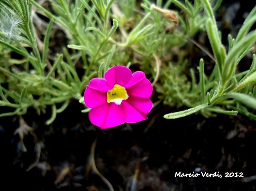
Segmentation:
<svg viewBox="0 0 256 191">
<path fill-rule="evenodd" d="M 107 91 L 107 103 L 114 102 L 120 105 L 122 100 L 127 100 L 128 97 L 126 89 L 118 84 L 114 85 L 113 89 Z"/>
</svg>

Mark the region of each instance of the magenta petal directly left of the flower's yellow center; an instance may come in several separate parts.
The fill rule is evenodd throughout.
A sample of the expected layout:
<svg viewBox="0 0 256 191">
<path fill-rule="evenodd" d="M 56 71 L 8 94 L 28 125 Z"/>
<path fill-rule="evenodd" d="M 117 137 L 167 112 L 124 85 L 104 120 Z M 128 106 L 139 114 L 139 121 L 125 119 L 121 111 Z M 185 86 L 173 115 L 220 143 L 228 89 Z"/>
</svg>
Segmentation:
<svg viewBox="0 0 256 191">
<path fill-rule="evenodd" d="M 101 92 L 91 87 L 87 87 L 84 91 L 84 103 L 87 107 L 93 108 L 107 102 L 107 93 Z"/>
</svg>

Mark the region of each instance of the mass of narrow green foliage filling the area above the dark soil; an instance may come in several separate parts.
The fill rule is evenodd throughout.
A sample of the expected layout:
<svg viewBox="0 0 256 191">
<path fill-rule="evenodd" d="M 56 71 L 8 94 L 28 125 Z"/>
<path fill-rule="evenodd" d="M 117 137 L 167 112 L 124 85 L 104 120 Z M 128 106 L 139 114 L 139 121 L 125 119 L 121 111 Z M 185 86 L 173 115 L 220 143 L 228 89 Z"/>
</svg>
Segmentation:
<svg viewBox="0 0 256 191">
<path fill-rule="evenodd" d="M 23 115 L 28 107 L 35 108 L 38 114 L 45 113 L 50 106 L 51 118 L 46 121 L 50 124 L 71 99 L 84 104 L 81 100 L 90 79 L 103 77 L 113 65 L 137 64 L 159 94 L 154 105 L 163 102 L 190 108 L 165 118 L 194 112 L 205 117 L 239 112 L 256 119 L 247 109 L 248 105 L 255 109 L 255 55 L 248 71 L 236 73 L 239 61 L 256 41 L 256 32 L 249 32 L 256 21 L 256 8 L 238 36 L 229 36 L 226 50 L 214 17 L 221 0 L 211 1 L 213 8 L 208 0 L 168 0 L 164 4 L 157 0 L 159 8 L 167 9 L 172 3 L 178 8 L 178 26 L 152 10 L 148 0 L 140 6 L 135 0 L 49 2 L 46 6 L 36 0 L 0 0 L 0 106 L 13 108 L 12 112 L 0 113 L 0 117 Z M 216 66 L 206 76 L 201 59 L 197 82 L 197 71 L 187 69 L 184 45 L 205 30 Z M 59 31 L 66 42 L 53 48 L 51 40 Z M 177 60 L 172 59 L 175 54 Z M 78 74 L 81 68 L 84 72 Z"/>
</svg>

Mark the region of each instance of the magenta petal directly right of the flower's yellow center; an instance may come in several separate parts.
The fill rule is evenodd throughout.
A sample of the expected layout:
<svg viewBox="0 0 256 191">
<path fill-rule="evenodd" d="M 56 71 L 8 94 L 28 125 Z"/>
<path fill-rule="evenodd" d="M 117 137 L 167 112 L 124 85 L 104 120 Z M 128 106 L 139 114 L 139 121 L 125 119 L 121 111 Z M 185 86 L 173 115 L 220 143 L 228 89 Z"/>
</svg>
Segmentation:
<svg viewBox="0 0 256 191">
<path fill-rule="evenodd" d="M 147 78 L 142 79 L 139 83 L 126 89 L 127 94 L 132 97 L 150 98 L 153 88 Z"/>
</svg>

